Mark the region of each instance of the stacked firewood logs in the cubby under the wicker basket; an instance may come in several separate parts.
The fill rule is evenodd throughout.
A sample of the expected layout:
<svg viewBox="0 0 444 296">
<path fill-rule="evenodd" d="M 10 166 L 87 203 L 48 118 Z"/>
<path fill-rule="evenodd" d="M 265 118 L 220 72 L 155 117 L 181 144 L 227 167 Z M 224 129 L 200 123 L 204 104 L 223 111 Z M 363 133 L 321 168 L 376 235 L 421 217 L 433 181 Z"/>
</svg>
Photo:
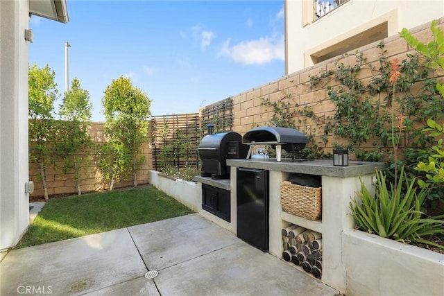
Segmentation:
<svg viewBox="0 0 444 296">
<path fill-rule="evenodd" d="M 282 228 L 282 258 L 293 262 L 317 279 L 322 277 L 322 234 L 298 225 Z"/>
</svg>

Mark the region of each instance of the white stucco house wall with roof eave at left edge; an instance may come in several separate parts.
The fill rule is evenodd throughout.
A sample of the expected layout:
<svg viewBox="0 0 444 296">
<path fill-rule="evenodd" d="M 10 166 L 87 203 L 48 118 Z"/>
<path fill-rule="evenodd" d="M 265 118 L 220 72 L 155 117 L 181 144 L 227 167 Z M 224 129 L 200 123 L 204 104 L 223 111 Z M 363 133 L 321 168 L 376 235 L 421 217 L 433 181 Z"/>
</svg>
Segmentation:
<svg viewBox="0 0 444 296">
<path fill-rule="evenodd" d="M 69 21 L 65 0 L 0 1 L 0 250 L 16 245 L 29 225 L 25 35 L 31 15 Z"/>
</svg>

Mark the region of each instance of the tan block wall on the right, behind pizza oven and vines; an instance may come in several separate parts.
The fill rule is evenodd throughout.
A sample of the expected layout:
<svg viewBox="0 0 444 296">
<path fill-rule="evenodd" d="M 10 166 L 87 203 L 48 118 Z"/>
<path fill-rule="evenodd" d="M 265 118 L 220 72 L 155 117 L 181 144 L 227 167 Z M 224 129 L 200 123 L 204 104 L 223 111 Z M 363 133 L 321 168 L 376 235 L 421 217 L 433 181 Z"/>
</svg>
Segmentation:
<svg viewBox="0 0 444 296">
<path fill-rule="evenodd" d="M 438 19 L 438 26 L 444 29 L 444 17 Z M 421 42 L 428 42 L 432 40 L 432 33 L 430 31 L 430 23 L 423 24 L 416 28 L 409 29 L 415 37 Z M 403 40 L 399 35 L 393 35 L 383 40 L 384 50 L 386 53 L 384 55 L 388 60 L 398 58 L 398 60 L 403 60 L 407 58 L 407 53 L 414 53 L 405 40 Z M 368 60 L 366 64 L 377 64 L 380 57 L 381 50 L 377 49 L 377 44 L 379 42 L 374 42 L 373 44 L 368 44 L 363 46 L 357 51 L 363 52 L 364 57 Z M 350 51 L 350 53 L 355 53 L 355 51 Z M 316 114 L 317 117 L 326 118 L 327 116 L 334 115 L 334 103 L 327 96 L 327 85 L 323 89 L 311 90 L 309 87 L 310 76 L 318 75 L 328 70 L 334 70 L 334 62 L 339 59 L 339 62 L 343 64 L 355 64 L 355 56 L 342 55 L 339 58 L 331 58 L 330 60 L 325 60 L 319 64 L 312 67 L 308 67 L 301 71 L 290 74 L 278 80 L 267 83 L 255 89 L 250 89 L 247 92 L 233 96 L 233 130 L 244 134 L 251 128 L 255 128 L 260 125 L 269 124 L 268 121 L 273 116 L 273 110 L 271 107 L 261 105 L 262 98 L 269 99 L 271 102 L 279 101 L 283 98 L 291 96 L 290 102 L 292 105 L 295 103 L 300 105 L 300 107 L 309 106 L 311 110 Z M 362 68 L 365 68 L 365 64 Z M 444 80 L 444 73 L 442 73 L 440 80 Z M 370 71 L 361 71 L 361 78 L 366 79 L 371 76 Z M 338 85 L 337 82 L 331 81 L 328 85 L 334 87 Z M 316 133 L 315 141 L 320 147 L 324 147 L 321 141 L 320 134 L 323 132 L 323 125 L 311 121 L 304 116 L 293 117 L 294 122 L 298 124 L 298 120 L 307 121 L 306 124 L 302 126 L 307 126 L 307 130 L 301 130 L 306 134 Z M 341 139 L 330 137 L 327 146 L 325 147 L 325 152 L 331 152 L 333 143 L 341 143 Z M 371 141 L 368 142 L 367 148 L 374 148 L 371 146 Z M 363 146 L 362 148 L 366 148 Z"/>
</svg>

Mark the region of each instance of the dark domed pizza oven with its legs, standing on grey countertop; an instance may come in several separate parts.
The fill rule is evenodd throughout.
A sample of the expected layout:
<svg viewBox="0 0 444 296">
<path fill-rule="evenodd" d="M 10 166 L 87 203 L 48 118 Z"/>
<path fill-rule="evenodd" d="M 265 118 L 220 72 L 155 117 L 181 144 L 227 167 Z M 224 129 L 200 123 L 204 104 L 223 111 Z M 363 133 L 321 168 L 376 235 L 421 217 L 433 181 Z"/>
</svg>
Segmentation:
<svg viewBox="0 0 444 296">
<path fill-rule="evenodd" d="M 246 132 L 242 143 L 250 146 L 271 145 L 273 149 L 276 149 L 276 159 L 280 162 L 281 150 L 287 153 L 297 153 L 305 148 L 308 139 L 305 134 L 294 128 L 264 126 Z"/>
</svg>

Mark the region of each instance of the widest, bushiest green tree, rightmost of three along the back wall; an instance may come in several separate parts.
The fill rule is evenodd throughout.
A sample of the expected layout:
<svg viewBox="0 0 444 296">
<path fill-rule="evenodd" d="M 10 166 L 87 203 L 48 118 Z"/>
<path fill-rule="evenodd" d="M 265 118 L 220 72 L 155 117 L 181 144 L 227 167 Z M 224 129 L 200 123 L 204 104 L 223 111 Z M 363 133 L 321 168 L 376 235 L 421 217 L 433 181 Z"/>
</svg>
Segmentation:
<svg viewBox="0 0 444 296">
<path fill-rule="evenodd" d="M 130 78 L 119 77 L 112 80 L 102 98 L 105 114 L 105 135 L 109 141 L 105 145 L 107 162 L 99 162 L 110 180 L 110 190 L 121 177 L 133 174 L 137 186 L 137 171 L 144 162 L 141 146 L 148 132 L 148 118 L 151 99 L 141 89 L 133 87 Z"/>
</svg>

